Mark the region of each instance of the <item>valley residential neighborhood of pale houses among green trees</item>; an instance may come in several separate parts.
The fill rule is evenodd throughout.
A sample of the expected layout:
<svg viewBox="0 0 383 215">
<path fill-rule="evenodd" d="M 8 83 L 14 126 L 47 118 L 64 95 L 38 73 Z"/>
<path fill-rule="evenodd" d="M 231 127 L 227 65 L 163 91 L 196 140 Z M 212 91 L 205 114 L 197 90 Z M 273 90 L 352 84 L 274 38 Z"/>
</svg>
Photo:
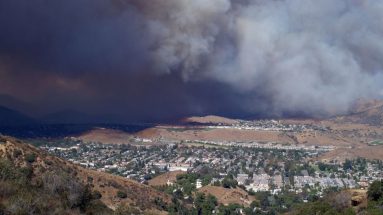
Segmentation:
<svg viewBox="0 0 383 215">
<path fill-rule="evenodd" d="M 265 145 L 265 144 L 260 144 Z M 70 147 L 42 146 L 48 152 L 84 167 L 134 179 L 141 183 L 165 172 L 183 171 L 201 175 L 194 184 L 222 182 L 228 175 L 248 192 L 315 190 L 318 196 L 328 188 L 363 188 L 383 179 L 382 161 L 357 158 L 327 163 L 316 158 L 319 147 L 270 147 L 232 143 L 220 147 L 188 145 L 188 142 L 159 145 L 115 145 L 82 143 Z M 273 147 L 271 147 L 273 146 Z M 206 173 L 207 172 L 207 173 Z"/>
</svg>

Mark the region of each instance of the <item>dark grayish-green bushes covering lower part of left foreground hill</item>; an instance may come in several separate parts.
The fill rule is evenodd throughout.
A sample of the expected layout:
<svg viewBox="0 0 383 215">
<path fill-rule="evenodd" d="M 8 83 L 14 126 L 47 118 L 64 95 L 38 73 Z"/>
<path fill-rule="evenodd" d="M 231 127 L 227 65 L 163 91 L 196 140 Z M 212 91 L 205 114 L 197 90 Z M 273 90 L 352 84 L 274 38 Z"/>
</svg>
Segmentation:
<svg viewBox="0 0 383 215">
<path fill-rule="evenodd" d="M 33 158 L 33 159 L 32 159 Z M 25 160 L 34 162 L 27 154 Z M 101 193 L 91 192 L 65 171 L 33 174 L 33 168 L 17 167 L 0 159 L 0 214 L 113 214 L 99 199 Z M 97 209 L 96 209 L 97 208 Z"/>
</svg>

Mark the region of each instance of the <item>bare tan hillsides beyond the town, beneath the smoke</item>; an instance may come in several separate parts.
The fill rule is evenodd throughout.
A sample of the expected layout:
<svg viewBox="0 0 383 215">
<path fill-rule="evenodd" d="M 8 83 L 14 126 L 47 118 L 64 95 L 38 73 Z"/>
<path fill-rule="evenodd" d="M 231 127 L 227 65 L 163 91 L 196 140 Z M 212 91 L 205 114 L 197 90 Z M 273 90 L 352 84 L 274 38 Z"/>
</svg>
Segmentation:
<svg viewBox="0 0 383 215">
<path fill-rule="evenodd" d="M 150 143 L 166 144 L 166 141 L 184 142 L 189 146 L 207 142 L 276 142 L 306 146 L 331 146 L 334 150 L 321 156 L 322 160 L 345 160 L 352 157 L 381 159 L 383 156 L 383 101 L 360 100 L 351 113 L 331 119 L 284 119 L 281 124 L 326 129 L 304 131 L 238 129 L 236 127 L 212 127 L 210 124 L 237 124 L 235 119 L 219 116 L 189 117 L 187 124 L 157 125 L 137 133 L 111 129 L 95 129 L 78 138 L 85 142 L 135 144 L 135 137 L 148 139 Z M 190 123 L 190 124 L 188 124 Z M 193 142 L 194 141 L 194 142 Z"/>
</svg>

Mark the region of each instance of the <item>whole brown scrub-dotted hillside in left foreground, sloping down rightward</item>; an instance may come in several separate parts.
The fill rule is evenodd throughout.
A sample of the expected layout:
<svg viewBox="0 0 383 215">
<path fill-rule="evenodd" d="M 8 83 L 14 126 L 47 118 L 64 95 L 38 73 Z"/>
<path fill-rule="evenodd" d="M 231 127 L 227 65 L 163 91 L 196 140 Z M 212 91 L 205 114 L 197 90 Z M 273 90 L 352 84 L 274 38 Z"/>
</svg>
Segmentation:
<svg viewBox="0 0 383 215">
<path fill-rule="evenodd" d="M 1 137 L 0 160 L 0 214 L 44 214 L 53 206 L 56 214 L 110 214 L 121 205 L 147 211 L 157 210 L 155 199 L 170 202 L 150 186 L 82 168 L 8 137 Z"/>
</svg>

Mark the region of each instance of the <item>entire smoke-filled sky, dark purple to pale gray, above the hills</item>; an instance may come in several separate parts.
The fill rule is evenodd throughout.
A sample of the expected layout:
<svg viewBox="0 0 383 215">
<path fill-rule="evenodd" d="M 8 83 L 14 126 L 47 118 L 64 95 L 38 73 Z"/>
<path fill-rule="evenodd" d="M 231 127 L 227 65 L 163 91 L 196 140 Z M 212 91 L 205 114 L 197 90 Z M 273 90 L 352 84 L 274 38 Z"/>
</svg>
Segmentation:
<svg viewBox="0 0 383 215">
<path fill-rule="evenodd" d="M 382 11 L 381 0 L 0 0 L 0 98 L 36 117 L 126 122 L 343 114 L 382 97 Z"/>
</svg>

